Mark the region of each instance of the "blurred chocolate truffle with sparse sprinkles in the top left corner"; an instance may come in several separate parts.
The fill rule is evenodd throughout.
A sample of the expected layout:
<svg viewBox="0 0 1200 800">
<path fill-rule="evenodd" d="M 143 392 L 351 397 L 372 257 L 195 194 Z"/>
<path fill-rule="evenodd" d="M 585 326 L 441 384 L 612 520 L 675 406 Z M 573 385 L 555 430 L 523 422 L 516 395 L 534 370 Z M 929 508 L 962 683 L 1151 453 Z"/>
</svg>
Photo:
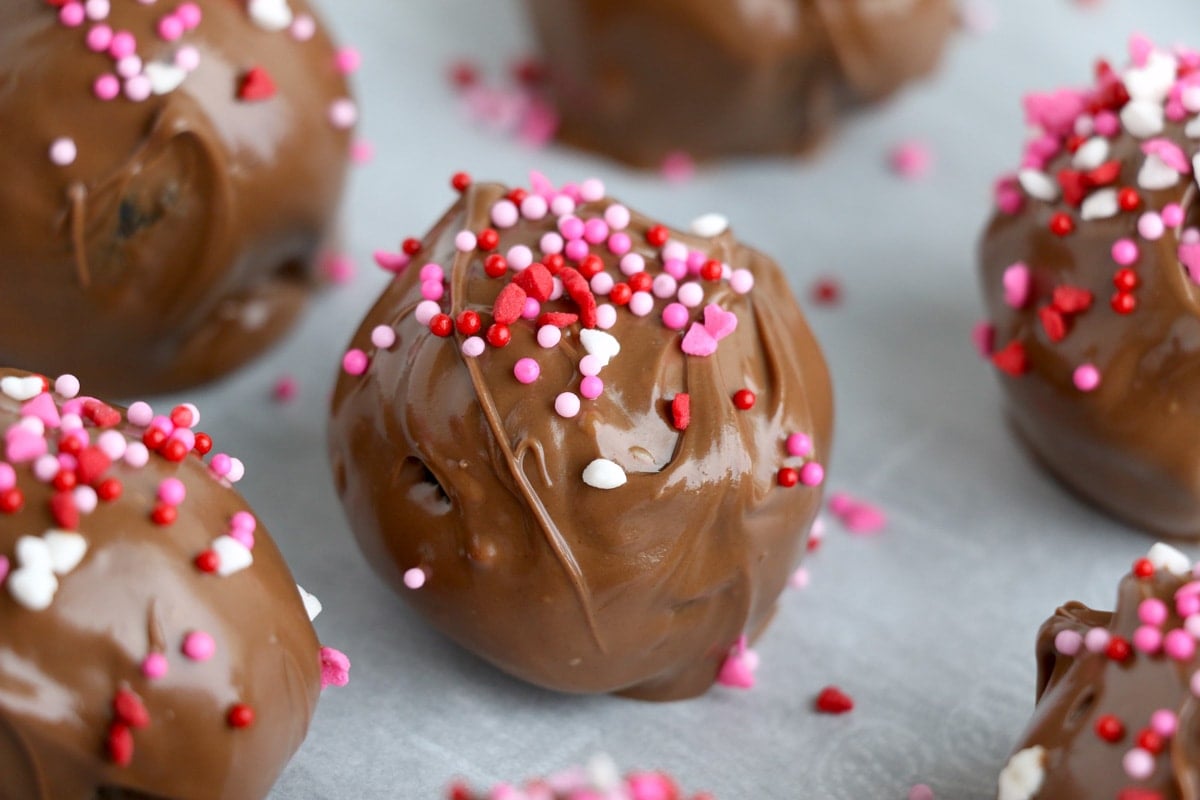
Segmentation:
<svg viewBox="0 0 1200 800">
<path fill-rule="evenodd" d="M 132 396 L 280 337 L 342 193 L 352 66 L 305 0 L 0 4 L 0 363 Z"/>
</svg>

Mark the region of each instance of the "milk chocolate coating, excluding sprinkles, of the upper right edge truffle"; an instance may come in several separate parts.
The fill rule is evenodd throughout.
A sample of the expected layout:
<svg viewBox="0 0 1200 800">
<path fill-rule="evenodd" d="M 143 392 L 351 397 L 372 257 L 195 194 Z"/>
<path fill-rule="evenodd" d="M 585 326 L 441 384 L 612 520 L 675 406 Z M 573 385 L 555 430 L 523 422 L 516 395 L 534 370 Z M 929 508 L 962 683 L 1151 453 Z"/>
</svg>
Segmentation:
<svg viewBox="0 0 1200 800">
<path fill-rule="evenodd" d="M 1188 158 L 1195 151 L 1182 122 L 1168 121 L 1156 138 L 1177 144 Z M 1108 139 L 1108 161 L 1120 166 L 1109 188 L 1136 190 L 1141 203 L 1135 210 L 1082 219 L 1062 199 L 1025 197 L 1016 213 L 997 212 L 979 248 L 983 290 L 995 349 L 1015 342 L 1027 357 L 1024 374 L 997 372 L 997 378 L 1008 419 L 1037 461 L 1085 500 L 1135 527 L 1196 539 L 1200 450 L 1192 443 L 1200 440 L 1200 302 L 1178 257 L 1182 231 L 1196 224 L 1196 186 L 1183 175 L 1170 188 L 1140 187 L 1146 140 L 1123 128 Z M 1055 176 L 1070 167 L 1072 155 L 1063 149 L 1044 172 Z M 1154 241 L 1140 235 L 1141 216 L 1169 204 L 1183 207 L 1183 223 L 1166 225 Z M 1070 216 L 1074 233 L 1051 233 L 1056 212 Z M 1111 306 L 1118 240 L 1140 249 L 1132 265 L 1136 308 L 1129 314 Z M 1004 300 L 1003 276 L 1018 263 L 1028 267 L 1032 290 L 1014 308 Z M 1067 315 L 1067 333 L 1056 342 L 1039 313 L 1064 285 L 1086 289 L 1093 301 L 1088 311 Z M 1085 392 L 1074 372 L 1088 363 L 1100 383 Z"/>
</svg>

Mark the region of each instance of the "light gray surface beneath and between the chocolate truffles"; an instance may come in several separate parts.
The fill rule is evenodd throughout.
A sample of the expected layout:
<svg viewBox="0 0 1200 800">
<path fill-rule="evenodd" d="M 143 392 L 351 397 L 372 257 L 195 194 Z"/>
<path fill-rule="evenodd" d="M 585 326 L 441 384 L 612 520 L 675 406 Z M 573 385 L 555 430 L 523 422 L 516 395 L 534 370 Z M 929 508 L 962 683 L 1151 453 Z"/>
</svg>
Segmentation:
<svg viewBox="0 0 1200 800">
<path fill-rule="evenodd" d="M 440 798 L 581 763 L 661 768 L 722 800 L 994 796 L 995 776 L 1033 700 L 1033 637 L 1070 599 L 1108 607 L 1120 573 L 1152 540 L 1079 505 L 1008 435 L 990 369 L 968 331 L 980 314 L 973 255 L 994 176 L 1024 137 L 1027 89 L 1088 80 L 1093 58 L 1123 61 L 1141 30 L 1200 46 L 1195 0 L 994 0 L 997 26 L 964 35 L 932 80 L 850 121 L 818 158 L 702 170 L 683 186 L 558 148 L 532 151 L 470 124 L 445 80 L 469 56 L 498 78 L 528 52 L 516 0 L 337 0 L 326 16 L 365 66 L 364 136 L 346 229 L 360 275 L 319 297 L 299 331 L 224 383 L 190 392 L 205 429 L 247 464 L 241 483 L 298 576 L 325 603 L 318 630 L 353 660 L 326 691 L 311 735 L 274 798 Z M 884 164 L 926 139 L 932 175 Z M 670 705 L 563 697 L 511 680 L 444 640 L 370 572 L 334 495 L 326 402 L 352 331 L 385 276 L 374 248 L 420 235 L 452 200 L 448 178 L 522 182 L 602 176 L 631 206 L 677 225 L 724 211 L 773 254 L 802 294 L 838 397 L 829 487 L 881 505 L 886 533 L 830 523 L 811 587 L 782 597 L 760 643 L 758 686 Z M 845 301 L 806 291 L 838 276 Z M 299 398 L 270 399 L 294 374 Z M 814 714 L 826 684 L 850 715 Z"/>
</svg>

